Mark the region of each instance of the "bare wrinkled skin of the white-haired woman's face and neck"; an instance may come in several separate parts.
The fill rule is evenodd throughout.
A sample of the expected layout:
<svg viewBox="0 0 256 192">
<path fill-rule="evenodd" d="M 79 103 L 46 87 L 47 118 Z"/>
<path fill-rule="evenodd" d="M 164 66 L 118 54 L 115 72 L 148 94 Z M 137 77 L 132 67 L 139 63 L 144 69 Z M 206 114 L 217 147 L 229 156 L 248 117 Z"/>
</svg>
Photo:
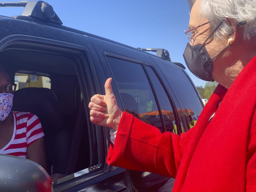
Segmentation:
<svg viewBox="0 0 256 192">
<path fill-rule="evenodd" d="M 197 27 L 208 22 L 207 18 L 200 17 L 200 5 L 202 0 L 195 1 L 190 14 L 189 28 Z M 224 1 L 223 1 L 224 2 Z M 223 53 L 213 60 L 212 77 L 219 84 L 227 89 L 234 82 L 235 78 L 242 71 L 243 67 L 256 55 L 256 38 L 245 40 L 243 38 L 244 26 L 237 26 L 233 18 L 227 18 L 227 25 L 233 28 L 233 33 L 222 37 L 221 39 L 210 38 L 205 48 L 210 57 L 218 55 L 227 45 L 228 39 L 232 38 L 234 42 Z M 239 30 L 238 30 L 239 29 Z M 190 43 L 192 46 L 201 45 L 211 34 L 210 24 L 198 27 L 193 30 L 194 41 Z M 191 32 L 192 34 L 192 32 Z"/>
</svg>

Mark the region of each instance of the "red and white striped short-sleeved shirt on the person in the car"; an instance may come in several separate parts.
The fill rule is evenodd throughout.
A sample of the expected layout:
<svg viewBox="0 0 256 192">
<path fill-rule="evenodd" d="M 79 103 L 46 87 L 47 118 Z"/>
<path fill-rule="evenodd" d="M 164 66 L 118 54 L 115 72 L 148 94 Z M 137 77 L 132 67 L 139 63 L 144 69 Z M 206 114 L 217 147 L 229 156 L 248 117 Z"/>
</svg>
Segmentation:
<svg viewBox="0 0 256 192">
<path fill-rule="evenodd" d="M 26 158 L 27 148 L 44 136 L 39 118 L 29 112 L 13 112 L 14 130 L 10 142 L 0 150 L 0 154 Z"/>
</svg>

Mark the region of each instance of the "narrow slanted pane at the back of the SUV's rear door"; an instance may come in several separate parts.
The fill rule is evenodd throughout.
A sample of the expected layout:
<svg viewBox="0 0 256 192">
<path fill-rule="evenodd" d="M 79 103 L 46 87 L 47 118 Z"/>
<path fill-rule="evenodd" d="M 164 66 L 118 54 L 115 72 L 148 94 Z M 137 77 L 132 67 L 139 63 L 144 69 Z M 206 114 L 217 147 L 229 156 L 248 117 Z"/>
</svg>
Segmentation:
<svg viewBox="0 0 256 192">
<path fill-rule="evenodd" d="M 177 134 L 177 126 L 170 100 L 167 97 L 166 92 L 163 89 L 154 71 L 149 66 L 146 66 L 146 69 L 154 86 L 155 92 L 157 93 L 157 98 L 161 106 L 166 131 L 174 132 Z"/>
</svg>

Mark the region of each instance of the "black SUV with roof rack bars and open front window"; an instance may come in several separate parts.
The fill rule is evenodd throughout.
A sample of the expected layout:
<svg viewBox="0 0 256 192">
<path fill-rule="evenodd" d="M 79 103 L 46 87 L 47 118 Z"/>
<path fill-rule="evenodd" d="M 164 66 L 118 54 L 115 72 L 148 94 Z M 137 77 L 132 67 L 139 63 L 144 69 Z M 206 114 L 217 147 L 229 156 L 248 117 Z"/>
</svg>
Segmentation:
<svg viewBox="0 0 256 192">
<path fill-rule="evenodd" d="M 141 192 L 155 191 L 170 181 L 161 175 L 107 165 L 109 129 L 90 122 L 87 106 L 92 95 L 105 94 L 104 83 L 112 77 L 121 109 L 162 132 L 180 135 L 195 125 L 203 109 L 185 67 L 171 62 L 167 50 L 135 49 L 65 27 L 43 1 L 0 6 L 25 7 L 20 16 L 0 16 L 0 58 L 13 82 L 19 83 L 13 110 L 30 111 L 41 120 L 46 171 L 61 175 L 50 188 Z M 50 87 L 22 84 L 17 74 L 29 75 L 31 82 L 46 77 Z M 46 191 L 41 189 L 42 183 L 47 186 L 51 181 L 29 160 L 0 155 L 0 162 L 1 191 Z"/>
</svg>

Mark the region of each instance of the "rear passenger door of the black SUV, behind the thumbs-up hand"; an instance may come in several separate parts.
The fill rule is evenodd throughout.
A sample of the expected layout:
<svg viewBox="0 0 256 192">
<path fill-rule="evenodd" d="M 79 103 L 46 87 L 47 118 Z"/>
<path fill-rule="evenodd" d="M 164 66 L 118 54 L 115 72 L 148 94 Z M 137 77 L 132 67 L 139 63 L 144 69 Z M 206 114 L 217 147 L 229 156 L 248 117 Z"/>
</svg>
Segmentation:
<svg viewBox="0 0 256 192">
<path fill-rule="evenodd" d="M 96 39 L 92 42 L 98 55 L 104 56 L 103 68 L 108 77 L 113 77 L 113 91 L 117 99 L 120 98 L 118 104 L 121 109 L 157 127 L 162 133 L 174 132 L 174 127 L 180 129 L 179 121 L 175 121 L 177 113 L 171 95 L 147 54 L 112 43 L 102 46 Z M 171 189 L 174 181 L 149 172 L 129 172 L 134 191 L 157 191 L 161 187 Z"/>
</svg>

